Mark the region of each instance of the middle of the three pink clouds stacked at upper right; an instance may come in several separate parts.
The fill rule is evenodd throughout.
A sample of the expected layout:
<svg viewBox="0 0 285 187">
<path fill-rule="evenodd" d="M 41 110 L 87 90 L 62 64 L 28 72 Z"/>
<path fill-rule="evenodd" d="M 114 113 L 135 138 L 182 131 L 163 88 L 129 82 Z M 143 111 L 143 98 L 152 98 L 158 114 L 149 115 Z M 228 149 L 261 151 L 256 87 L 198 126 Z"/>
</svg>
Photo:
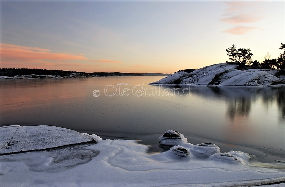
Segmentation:
<svg viewBox="0 0 285 187">
<path fill-rule="evenodd" d="M 231 23 L 231 24 L 240 24 L 240 23 L 253 23 L 256 21 L 260 21 L 263 19 L 261 16 L 254 16 L 251 14 L 241 14 L 236 16 L 231 16 L 229 18 L 220 19 L 223 22 Z"/>
</svg>

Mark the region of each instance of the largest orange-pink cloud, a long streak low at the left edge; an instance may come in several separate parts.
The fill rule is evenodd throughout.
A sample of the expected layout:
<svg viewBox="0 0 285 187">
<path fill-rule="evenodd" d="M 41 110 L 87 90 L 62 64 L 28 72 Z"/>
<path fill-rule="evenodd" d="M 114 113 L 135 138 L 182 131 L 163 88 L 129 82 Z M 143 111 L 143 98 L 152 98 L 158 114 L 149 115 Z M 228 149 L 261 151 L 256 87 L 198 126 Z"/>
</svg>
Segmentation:
<svg viewBox="0 0 285 187">
<path fill-rule="evenodd" d="M 67 53 L 51 53 L 50 50 L 38 47 L 16 46 L 0 44 L 0 56 L 2 59 L 14 60 L 86 60 L 85 56 Z"/>
</svg>

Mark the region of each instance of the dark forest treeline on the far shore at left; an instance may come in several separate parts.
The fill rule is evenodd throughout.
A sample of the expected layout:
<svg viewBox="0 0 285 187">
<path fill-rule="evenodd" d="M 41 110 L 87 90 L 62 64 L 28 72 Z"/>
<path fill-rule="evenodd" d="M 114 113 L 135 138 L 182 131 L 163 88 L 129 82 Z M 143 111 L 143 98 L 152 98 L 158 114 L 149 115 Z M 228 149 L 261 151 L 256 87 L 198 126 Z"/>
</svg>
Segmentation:
<svg viewBox="0 0 285 187">
<path fill-rule="evenodd" d="M 63 71 L 56 69 L 29 69 L 29 68 L 0 68 L 0 76 L 16 76 L 16 75 L 57 75 L 68 76 L 70 73 L 89 74 L 77 71 Z"/>
</svg>

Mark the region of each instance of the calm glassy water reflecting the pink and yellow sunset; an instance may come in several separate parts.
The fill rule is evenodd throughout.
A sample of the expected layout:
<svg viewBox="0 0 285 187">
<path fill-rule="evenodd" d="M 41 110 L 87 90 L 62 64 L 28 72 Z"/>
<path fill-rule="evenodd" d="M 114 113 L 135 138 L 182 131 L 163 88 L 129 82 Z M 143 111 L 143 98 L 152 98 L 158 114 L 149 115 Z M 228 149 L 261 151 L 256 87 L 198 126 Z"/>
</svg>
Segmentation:
<svg viewBox="0 0 285 187">
<path fill-rule="evenodd" d="M 193 144 L 211 141 L 221 151 L 284 160 L 285 88 L 149 85 L 161 78 L 0 80 L 0 126 L 54 125 L 143 140 L 154 151 L 158 137 L 172 129 Z"/>
</svg>

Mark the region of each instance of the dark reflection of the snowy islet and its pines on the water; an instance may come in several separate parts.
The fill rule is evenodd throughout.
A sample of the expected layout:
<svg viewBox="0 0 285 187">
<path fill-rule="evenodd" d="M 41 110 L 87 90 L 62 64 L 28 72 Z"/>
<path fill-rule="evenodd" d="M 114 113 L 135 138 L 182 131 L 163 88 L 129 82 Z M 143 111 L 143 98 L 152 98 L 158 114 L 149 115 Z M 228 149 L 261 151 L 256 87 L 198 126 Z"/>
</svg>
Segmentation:
<svg viewBox="0 0 285 187">
<path fill-rule="evenodd" d="M 163 89 L 175 89 L 181 95 L 199 95 L 216 100 L 224 100 L 227 104 L 226 115 L 234 120 L 235 117 L 246 118 L 252 110 L 252 104 L 262 100 L 265 108 L 277 105 L 280 121 L 285 121 L 285 88 L 233 88 L 233 87 L 206 87 L 187 85 L 167 85 Z M 178 94 L 177 94 L 178 95 Z"/>
</svg>

